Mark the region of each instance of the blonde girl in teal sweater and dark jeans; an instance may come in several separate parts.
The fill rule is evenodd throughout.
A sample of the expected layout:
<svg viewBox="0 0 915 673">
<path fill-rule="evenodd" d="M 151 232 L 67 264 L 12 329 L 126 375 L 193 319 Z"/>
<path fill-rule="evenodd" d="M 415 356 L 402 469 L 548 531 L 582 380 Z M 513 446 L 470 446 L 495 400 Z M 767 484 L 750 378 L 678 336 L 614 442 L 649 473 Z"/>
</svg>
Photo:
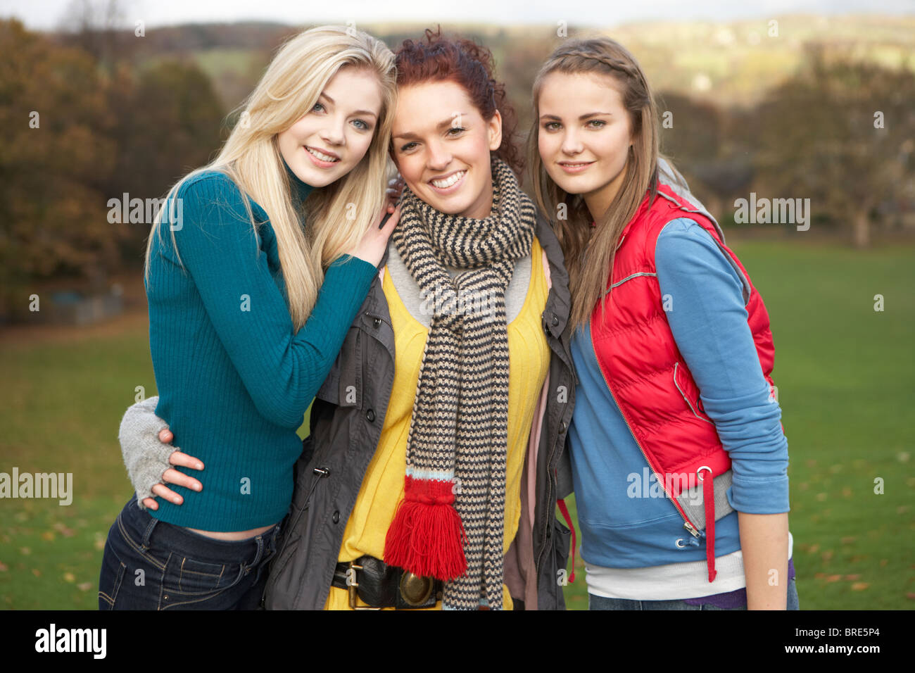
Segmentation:
<svg viewBox="0 0 915 673">
<path fill-rule="evenodd" d="M 205 462 L 210 481 L 184 507 L 124 506 L 100 608 L 260 602 L 302 450 L 296 429 L 398 219 L 382 220 L 394 73 L 380 40 L 304 31 L 279 50 L 219 155 L 169 190 L 145 260 L 156 414 L 199 459 L 176 464 Z"/>
</svg>

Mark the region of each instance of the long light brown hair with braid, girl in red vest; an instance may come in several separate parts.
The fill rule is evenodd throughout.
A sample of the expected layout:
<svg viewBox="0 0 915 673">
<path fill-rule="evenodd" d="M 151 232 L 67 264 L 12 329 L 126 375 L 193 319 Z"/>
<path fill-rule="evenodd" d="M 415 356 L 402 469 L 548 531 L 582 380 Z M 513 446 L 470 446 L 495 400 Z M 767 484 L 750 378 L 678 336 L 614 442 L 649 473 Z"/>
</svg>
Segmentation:
<svg viewBox="0 0 915 673">
<path fill-rule="evenodd" d="M 594 72 L 619 83 L 623 106 L 630 115 L 633 143 L 626 159 L 626 176 L 607 212 L 592 218 L 581 194 L 568 194 L 550 178 L 538 151 L 540 92 L 551 72 Z M 533 81 L 533 125 L 528 136 L 528 162 L 537 205 L 548 216 L 565 203 L 567 219 L 556 220 L 556 237 L 562 245 L 572 294 L 571 324 L 587 326 L 591 311 L 604 301 L 608 270 L 613 266 L 619 235 L 630 222 L 646 192 L 654 199 L 658 188 L 658 112 L 638 62 L 610 38 L 570 39 L 555 49 Z M 554 219 L 554 218 L 551 218 Z M 587 264 L 586 262 L 587 256 Z M 605 294 L 606 293 L 606 294 Z"/>
</svg>

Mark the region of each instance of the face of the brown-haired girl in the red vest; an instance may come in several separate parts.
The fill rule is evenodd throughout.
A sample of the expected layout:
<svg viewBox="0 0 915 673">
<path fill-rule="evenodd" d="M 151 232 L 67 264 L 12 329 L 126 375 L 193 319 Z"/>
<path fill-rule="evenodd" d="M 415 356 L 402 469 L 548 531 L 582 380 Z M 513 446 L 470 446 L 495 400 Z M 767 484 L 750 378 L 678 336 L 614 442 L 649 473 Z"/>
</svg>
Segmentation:
<svg viewBox="0 0 915 673">
<path fill-rule="evenodd" d="M 544 169 L 570 194 L 581 194 L 599 219 L 626 177 L 630 115 L 608 75 L 552 72 L 538 100 L 537 145 Z"/>
</svg>

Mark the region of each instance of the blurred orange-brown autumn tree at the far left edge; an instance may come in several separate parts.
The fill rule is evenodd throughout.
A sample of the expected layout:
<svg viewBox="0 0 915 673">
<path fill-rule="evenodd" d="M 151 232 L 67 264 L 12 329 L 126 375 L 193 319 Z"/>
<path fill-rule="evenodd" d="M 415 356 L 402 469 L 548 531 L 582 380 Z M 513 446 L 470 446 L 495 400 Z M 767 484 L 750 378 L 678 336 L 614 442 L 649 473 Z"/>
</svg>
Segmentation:
<svg viewBox="0 0 915 673">
<path fill-rule="evenodd" d="M 91 277 L 116 257 L 100 185 L 113 169 L 111 110 L 92 57 L 0 20 L 0 312 L 30 282 Z"/>
</svg>

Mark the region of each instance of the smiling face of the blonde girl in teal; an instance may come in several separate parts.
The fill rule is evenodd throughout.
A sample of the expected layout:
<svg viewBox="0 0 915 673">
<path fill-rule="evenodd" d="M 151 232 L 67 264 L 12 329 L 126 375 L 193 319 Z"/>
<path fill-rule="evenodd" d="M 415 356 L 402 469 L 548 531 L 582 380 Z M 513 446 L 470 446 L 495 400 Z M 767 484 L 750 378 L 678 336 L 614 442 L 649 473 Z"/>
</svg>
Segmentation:
<svg viewBox="0 0 915 673">
<path fill-rule="evenodd" d="M 371 71 L 344 66 L 330 78 L 318 103 L 278 134 L 277 145 L 298 179 L 326 187 L 359 164 L 381 114 L 378 79 Z"/>
</svg>

